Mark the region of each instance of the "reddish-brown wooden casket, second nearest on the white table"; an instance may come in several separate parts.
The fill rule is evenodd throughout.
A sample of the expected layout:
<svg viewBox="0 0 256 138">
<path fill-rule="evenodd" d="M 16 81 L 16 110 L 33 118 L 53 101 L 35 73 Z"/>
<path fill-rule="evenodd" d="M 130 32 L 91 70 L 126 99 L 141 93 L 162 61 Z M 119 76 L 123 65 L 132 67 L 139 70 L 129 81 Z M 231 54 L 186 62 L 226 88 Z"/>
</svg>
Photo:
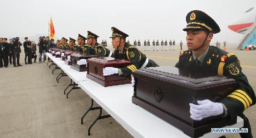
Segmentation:
<svg viewBox="0 0 256 138">
<path fill-rule="evenodd" d="M 91 58 L 87 60 L 88 70 L 86 77 L 94 80 L 104 87 L 131 83 L 131 76 L 124 77 L 119 76 L 118 74 L 103 76 L 103 68 L 124 68 L 129 65 L 131 65 L 131 62 L 124 59 L 115 59 L 111 57 Z"/>
</svg>

